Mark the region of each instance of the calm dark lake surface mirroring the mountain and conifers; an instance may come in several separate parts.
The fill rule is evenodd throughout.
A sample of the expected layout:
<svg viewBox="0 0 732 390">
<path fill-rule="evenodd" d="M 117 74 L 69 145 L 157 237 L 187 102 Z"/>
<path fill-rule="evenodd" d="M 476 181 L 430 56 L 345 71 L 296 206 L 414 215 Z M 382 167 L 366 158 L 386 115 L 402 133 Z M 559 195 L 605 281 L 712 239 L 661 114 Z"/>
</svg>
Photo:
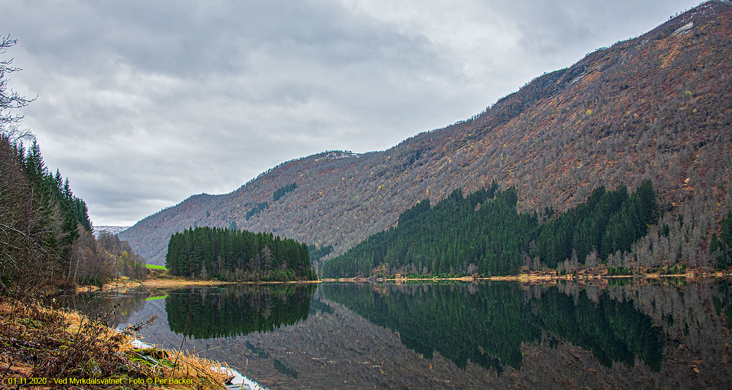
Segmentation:
<svg viewBox="0 0 732 390">
<path fill-rule="evenodd" d="M 226 285 L 68 297 L 269 389 L 729 389 L 732 284 Z"/>
</svg>

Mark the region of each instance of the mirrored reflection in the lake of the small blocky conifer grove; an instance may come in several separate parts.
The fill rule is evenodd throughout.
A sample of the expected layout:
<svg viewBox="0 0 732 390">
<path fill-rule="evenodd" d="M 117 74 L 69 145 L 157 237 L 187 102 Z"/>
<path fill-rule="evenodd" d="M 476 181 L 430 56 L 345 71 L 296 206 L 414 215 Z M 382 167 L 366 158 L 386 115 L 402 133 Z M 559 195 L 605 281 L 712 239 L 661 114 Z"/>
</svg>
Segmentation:
<svg viewBox="0 0 732 390">
<path fill-rule="evenodd" d="M 237 336 L 305 320 L 314 290 L 315 285 L 191 288 L 168 295 L 165 311 L 178 334 L 197 339 Z"/>
</svg>

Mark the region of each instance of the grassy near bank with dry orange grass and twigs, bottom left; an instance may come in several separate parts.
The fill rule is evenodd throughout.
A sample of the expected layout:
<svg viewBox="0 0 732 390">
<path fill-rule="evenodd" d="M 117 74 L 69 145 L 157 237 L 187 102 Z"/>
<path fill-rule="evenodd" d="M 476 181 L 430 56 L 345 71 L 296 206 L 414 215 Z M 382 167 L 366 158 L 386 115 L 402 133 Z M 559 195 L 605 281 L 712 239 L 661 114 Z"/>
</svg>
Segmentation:
<svg viewBox="0 0 732 390">
<path fill-rule="evenodd" d="M 132 340 L 152 321 L 116 331 L 103 315 L 1 298 L 0 388 L 33 381 L 35 389 L 72 383 L 84 389 L 223 389 L 228 374 L 216 361 L 188 351 L 135 348 Z"/>
</svg>

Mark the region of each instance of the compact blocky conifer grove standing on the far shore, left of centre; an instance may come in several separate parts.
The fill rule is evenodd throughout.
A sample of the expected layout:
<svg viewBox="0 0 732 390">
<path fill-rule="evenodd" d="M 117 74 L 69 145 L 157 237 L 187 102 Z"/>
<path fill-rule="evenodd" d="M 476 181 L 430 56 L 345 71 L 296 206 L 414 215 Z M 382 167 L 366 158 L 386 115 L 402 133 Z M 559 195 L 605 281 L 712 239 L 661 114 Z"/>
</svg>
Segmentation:
<svg viewBox="0 0 732 390">
<path fill-rule="evenodd" d="M 201 279 L 317 279 L 306 244 L 228 228 L 189 228 L 173 234 L 165 266 L 173 275 Z"/>
</svg>

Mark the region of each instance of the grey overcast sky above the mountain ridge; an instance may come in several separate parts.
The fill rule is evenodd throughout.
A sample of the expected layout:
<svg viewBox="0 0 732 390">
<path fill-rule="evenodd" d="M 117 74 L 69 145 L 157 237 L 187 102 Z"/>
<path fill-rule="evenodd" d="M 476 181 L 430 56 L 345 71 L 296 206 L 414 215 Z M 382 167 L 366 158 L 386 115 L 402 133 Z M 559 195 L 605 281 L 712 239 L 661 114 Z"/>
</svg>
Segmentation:
<svg viewBox="0 0 732 390">
<path fill-rule="evenodd" d="M 231 192 L 285 160 L 384 150 L 688 0 L 6 1 L 24 126 L 94 225 Z"/>
</svg>

